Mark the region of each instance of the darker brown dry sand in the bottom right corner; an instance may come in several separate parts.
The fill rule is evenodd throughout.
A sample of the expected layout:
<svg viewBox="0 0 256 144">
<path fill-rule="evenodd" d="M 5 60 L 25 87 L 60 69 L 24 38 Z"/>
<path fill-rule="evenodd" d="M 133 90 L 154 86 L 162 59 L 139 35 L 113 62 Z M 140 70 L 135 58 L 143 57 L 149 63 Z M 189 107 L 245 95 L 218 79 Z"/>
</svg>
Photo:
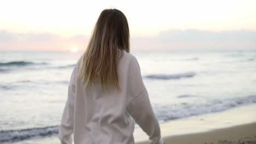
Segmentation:
<svg viewBox="0 0 256 144">
<path fill-rule="evenodd" d="M 199 144 L 199 143 L 256 143 L 256 122 L 237 125 L 230 128 L 222 128 L 194 134 L 177 136 L 164 136 L 166 144 Z M 146 144 L 147 141 L 136 144 Z"/>
</svg>

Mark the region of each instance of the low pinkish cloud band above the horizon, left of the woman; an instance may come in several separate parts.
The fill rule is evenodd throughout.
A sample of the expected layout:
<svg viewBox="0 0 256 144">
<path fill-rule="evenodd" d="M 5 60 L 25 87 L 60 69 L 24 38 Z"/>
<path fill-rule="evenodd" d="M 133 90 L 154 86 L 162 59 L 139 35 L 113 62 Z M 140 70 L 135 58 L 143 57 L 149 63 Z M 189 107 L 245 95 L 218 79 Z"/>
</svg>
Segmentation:
<svg viewBox="0 0 256 144">
<path fill-rule="evenodd" d="M 83 50 L 89 37 L 85 35 L 63 36 L 51 33 L 0 32 L 0 51 L 43 50 L 68 51 L 71 47 Z"/>
</svg>

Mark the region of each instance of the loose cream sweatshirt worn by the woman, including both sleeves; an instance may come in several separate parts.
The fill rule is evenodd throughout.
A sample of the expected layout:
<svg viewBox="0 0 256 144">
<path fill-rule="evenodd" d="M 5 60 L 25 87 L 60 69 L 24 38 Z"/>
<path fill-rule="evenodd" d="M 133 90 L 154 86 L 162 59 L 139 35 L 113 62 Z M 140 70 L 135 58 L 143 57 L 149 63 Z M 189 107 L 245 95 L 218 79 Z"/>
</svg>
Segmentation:
<svg viewBox="0 0 256 144">
<path fill-rule="evenodd" d="M 149 143 L 164 143 L 135 56 L 124 52 L 120 58 L 118 77 L 121 91 L 112 92 L 102 92 L 97 83 L 83 88 L 78 78 L 80 61 L 81 58 L 68 86 L 68 99 L 58 135 L 61 143 L 72 143 L 72 133 L 75 144 L 135 143 L 132 118 L 147 133 Z"/>
</svg>

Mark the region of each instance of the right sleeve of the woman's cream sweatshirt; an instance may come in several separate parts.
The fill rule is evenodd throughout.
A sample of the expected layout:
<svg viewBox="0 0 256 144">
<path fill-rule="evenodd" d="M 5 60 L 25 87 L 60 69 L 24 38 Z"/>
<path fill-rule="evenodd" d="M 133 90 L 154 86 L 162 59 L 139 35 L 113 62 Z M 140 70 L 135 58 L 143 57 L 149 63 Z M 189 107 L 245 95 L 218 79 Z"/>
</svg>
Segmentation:
<svg viewBox="0 0 256 144">
<path fill-rule="evenodd" d="M 127 93 L 132 99 L 127 105 L 127 111 L 142 130 L 147 133 L 150 144 L 162 144 L 164 141 L 161 138 L 158 119 L 152 109 L 147 89 L 142 80 L 141 70 L 135 57 L 132 57 L 129 72 Z"/>
</svg>

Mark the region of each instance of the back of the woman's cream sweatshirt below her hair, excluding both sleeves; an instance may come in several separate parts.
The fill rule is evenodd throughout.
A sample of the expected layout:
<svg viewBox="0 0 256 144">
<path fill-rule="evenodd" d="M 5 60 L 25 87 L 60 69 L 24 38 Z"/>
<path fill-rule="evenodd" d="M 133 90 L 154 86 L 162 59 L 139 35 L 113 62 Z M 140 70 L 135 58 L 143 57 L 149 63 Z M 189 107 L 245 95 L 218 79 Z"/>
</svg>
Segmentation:
<svg viewBox="0 0 256 144">
<path fill-rule="evenodd" d="M 132 99 L 131 95 L 127 95 L 129 87 L 127 72 L 131 60 L 132 56 L 124 53 L 119 61 L 118 75 L 121 87 L 119 91 L 116 89 L 104 92 L 96 82 L 90 88 L 83 90 L 83 85 L 80 85 L 79 80 L 77 81 L 80 91 L 75 94 L 77 98 L 74 105 L 75 117 L 79 118 L 75 121 L 74 127 L 79 130 L 78 135 L 75 135 L 76 131 L 74 131 L 74 135 L 77 136 L 74 140 L 88 139 L 90 143 L 134 143 L 133 130 L 126 115 L 126 105 Z M 88 134 L 88 137 L 79 134 Z"/>
</svg>

